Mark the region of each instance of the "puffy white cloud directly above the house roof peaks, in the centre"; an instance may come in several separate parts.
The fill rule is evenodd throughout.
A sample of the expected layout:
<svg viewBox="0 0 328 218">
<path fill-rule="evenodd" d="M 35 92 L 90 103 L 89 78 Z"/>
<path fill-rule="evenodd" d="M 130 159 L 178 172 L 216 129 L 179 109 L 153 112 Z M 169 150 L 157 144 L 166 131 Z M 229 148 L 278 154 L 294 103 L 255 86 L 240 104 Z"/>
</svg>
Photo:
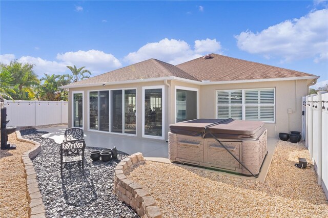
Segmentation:
<svg viewBox="0 0 328 218">
<path fill-rule="evenodd" d="M 220 42 L 216 39 L 204 39 L 195 41 L 195 49 L 183 41 L 164 38 L 159 42 L 149 42 L 138 51 L 129 53 L 124 60 L 136 63 L 150 58 L 156 58 L 171 64 L 178 64 L 201 57 L 208 53 L 221 53 Z"/>
</svg>

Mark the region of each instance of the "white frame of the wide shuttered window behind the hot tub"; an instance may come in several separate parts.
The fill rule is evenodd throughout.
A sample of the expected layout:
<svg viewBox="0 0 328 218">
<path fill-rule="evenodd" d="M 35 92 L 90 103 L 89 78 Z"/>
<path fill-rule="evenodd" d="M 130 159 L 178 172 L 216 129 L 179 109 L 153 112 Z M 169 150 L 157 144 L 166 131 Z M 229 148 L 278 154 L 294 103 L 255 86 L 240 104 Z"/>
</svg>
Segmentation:
<svg viewBox="0 0 328 218">
<path fill-rule="evenodd" d="M 218 96 L 218 92 L 220 91 L 239 91 L 241 90 L 241 95 L 242 95 L 242 102 L 241 104 L 218 104 L 217 102 L 217 96 Z M 262 91 L 262 90 L 273 90 L 273 101 L 274 103 L 273 104 L 245 104 L 245 91 L 251 91 L 251 90 L 254 90 L 254 91 Z M 216 90 L 215 91 L 215 117 L 216 119 L 219 119 L 218 118 L 218 106 L 219 105 L 224 105 L 224 106 L 237 106 L 237 105 L 241 105 L 241 116 L 242 116 L 242 119 L 241 120 L 246 120 L 246 106 L 273 106 L 273 121 L 262 121 L 262 120 L 259 120 L 259 121 L 262 121 L 264 123 L 276 123 L 276 88 L 260 88 L 260 89 L 231 89 L 231 90 L 228 90 L 228 89 L 224 89 L 224 90 Z"/>
</svg>

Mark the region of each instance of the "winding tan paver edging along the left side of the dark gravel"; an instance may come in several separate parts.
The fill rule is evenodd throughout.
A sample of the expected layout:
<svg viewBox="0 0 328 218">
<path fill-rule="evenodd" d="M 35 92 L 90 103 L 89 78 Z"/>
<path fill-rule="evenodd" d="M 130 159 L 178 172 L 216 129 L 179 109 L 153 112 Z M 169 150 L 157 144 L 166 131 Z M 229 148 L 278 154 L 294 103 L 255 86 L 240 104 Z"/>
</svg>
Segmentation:
<svg viewBox="0 0 328 218">
<path fill-rule="evenodd" d="M 22 163 L 24 164 L 26 178 L 26 195 L 29 202 L 29 217 L 43 218 L 46 217 L 45 205 L 42 201 L 42 194 L 39 190 L 36 180 L 36 172 L 34 171 L 31 158 L 34 158 L 41 151 L 41 145 L 38 142 L 29 139 L 23 139 L 19 131 L 16 131 L 17 141 L 28 142 L 35 146 L 25 151 L 22 155 Z"/>
</svg>

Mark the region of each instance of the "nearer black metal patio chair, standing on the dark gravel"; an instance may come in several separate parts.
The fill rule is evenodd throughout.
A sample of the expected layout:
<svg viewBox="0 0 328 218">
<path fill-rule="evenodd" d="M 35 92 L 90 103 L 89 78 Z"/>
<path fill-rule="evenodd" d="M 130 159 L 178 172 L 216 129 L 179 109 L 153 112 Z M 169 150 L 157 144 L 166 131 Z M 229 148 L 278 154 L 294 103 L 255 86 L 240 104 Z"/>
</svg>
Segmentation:
<svg viewBox="0 0 328 218">
<path fill-rule="evenodd" d="M 82 175 L 84 175 L 84 151 L 86 143 L 84 140 L 71 140 L 62 142 L 59 148 L 60 154 L 60 175 L 63 177 L 63 164 L 71 162 L 81 162 Z"/>
</svg>

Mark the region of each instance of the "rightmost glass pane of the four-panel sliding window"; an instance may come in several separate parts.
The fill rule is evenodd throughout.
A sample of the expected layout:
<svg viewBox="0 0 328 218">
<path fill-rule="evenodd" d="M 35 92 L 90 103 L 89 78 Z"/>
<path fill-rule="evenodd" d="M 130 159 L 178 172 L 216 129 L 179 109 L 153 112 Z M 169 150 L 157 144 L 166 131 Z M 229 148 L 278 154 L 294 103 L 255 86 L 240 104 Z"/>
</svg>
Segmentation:
<svg viewBox="0 0 328 218">
<path fill-rule="evenodd" d="M 135 90 L 125 90 L 125 124 L 124 133 L 136 134 L 136 92 Z"/>
</svg>

